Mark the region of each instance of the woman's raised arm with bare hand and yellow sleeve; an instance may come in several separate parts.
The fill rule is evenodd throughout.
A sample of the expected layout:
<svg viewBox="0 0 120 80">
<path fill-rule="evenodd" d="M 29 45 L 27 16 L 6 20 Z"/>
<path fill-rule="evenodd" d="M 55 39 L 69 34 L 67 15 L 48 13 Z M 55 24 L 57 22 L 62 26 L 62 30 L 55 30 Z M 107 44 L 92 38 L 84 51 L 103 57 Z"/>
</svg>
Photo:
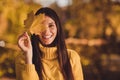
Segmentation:
<svg viewBox="0 0 120 80">
<path fill-rule="evenodd" d="M 18 39 L 18 46 L 23 54 L 18 54 L 15 59 L 17 80 L 39 80 L 34 64 L 32 64 L 32 45 L 27 32 Z"/>
</svg>

